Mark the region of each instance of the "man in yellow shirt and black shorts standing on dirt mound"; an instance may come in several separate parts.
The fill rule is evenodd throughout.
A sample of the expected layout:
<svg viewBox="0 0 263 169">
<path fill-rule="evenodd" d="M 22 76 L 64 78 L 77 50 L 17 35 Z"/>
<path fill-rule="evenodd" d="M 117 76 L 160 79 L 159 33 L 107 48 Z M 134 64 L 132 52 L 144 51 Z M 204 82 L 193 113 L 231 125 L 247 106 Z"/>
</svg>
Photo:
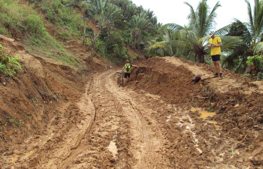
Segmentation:
<svg viewBox="0 0 263 169">
<path fill-rule="evenodd" d="M 221 46 L 222 46 L 222 41 L 220 37 L 215 37 L 215 32 L 210 31 L 209 36 L 211 37 L 209 39 L 209 45 L 208 48 L 211 49 L 211 57 L 214 63 L 215 67 L 215 75 L 212 76 L 212 78 L 219 77 L 220 79 L 223 79 L 222 76 L 222 67 L 220 64 L 220 56 L 221 56 Z"/>
</svg>

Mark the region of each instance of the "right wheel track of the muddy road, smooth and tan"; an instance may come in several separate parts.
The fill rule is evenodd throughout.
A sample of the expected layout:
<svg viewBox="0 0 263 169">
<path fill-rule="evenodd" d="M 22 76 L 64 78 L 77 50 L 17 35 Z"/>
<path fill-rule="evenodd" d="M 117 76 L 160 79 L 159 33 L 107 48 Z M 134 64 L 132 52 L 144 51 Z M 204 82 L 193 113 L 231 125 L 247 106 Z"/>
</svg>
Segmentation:
<svg viewBox="0 0 263 169">
<path fill-rule="evenodd" d="M 114 73 L 108 76 L 113 77 Z M 133 164 L 135 169 L 159 169 L 168 168 L 170 165 L 168 160 L 162 153 L 164 138 L 160 129 L 153 119 L 150 119 L 152 110 L 148 110 L 140 103 L 133 101 L 139 99 L 143 95 L 138 95 L 135 92 L 125 89 L 119 90 L 114 85 L 114 82 L 110 78 L 109 89 L 110 91 L 123 102 L 123 109 L 125 110 L 125 116 L 131 123 L 131 134 L 133 140 L 131 141 L 131 151 L 134 154 L 136 162 Z M 130 114 L 131 113 L 131 114 Z"/>
</svg>

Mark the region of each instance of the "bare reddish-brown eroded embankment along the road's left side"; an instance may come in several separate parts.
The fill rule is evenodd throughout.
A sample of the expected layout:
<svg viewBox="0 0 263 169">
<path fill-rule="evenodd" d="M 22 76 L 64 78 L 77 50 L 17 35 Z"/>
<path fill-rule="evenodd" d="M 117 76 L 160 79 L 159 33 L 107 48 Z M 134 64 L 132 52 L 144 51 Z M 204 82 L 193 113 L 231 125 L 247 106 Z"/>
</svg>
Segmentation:
<svg viewBox="0 0 263 169">
<path fill-rule="evenodd" d="M 0 78 L 0 153 L 4 157 L 14 154 L 26 137 L 49 132 L 47 125 L 62 109 L 68 123 L 75 123 L 76 115 L 70 114 L 89 73 L 31 56 L 11 38 L 1 36 L 0 43 L 10 56 L 19 56 L 22 65 L 13 78 Z"/>
</svg>

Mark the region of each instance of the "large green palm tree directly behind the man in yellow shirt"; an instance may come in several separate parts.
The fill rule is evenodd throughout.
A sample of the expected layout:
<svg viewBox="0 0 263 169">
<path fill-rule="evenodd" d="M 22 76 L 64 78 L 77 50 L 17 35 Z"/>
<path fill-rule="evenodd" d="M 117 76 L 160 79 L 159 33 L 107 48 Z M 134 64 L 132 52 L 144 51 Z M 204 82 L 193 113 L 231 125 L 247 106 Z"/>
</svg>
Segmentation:
<svg viewBox="0 0 263 169">
<path fill-rule="evenodd" d="M 170 39 L 169 41 L 158 43 L 166 43 L 169 44 L 166 46 L 172 46 L 173 48 L 180 49 L 176 52 L 177 56 L 188 55 L 186 56 L 187 58 L 194 56 L 194 60 L 196 62 L 204 63 L 205 56 L 209 54 L 207 41 L 210 37 L 208 37 L 207 34 L 211 29 L 214 28 L 214 19 L 217 16 L 215 11 L 221 5 L 218 1 L 210 12 L 207 5 L 207 0 L 201 0 L 196 11 L 194 11 L 193 7 L 188 2 L 184 3 L 190 7 L 190 14 L 188 15 L 189 25 L 181 26 L 175 23 L 164 25 L 168 29 L 179 32 L 181 39 Z M 221 30 L 218 30 L 217 32 L 220 31 Z M 238 37 L 220 37 L 223 41 L 221 50 L 229 50 L 241 43 L 241 39 Z"/>
</svg>

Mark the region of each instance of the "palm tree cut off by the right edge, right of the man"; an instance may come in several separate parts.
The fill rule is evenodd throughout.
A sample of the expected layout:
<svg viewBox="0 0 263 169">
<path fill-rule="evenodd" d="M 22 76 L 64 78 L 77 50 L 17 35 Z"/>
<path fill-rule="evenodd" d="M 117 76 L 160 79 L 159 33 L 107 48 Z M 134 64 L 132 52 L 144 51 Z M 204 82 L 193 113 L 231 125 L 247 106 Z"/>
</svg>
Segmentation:
<svg viewBox="0 0 263 169">
<path fill-rule="evenodd" d="M 236 69 L 238 73 L 244 72 L 247 56 L 262 54 L 263 52 L 263 0 L 254 0 L 254 13 L 252 13 L 249 1 L 245 0 L 245 2 L 247 3 L 249 22 L 235 19 L 235 22 L 225 27 L 227 35 L 241 36 L 244 40 L 240 47 L 223 60 L 223 64 L 229 67 L 233 64 L 234 59 L 239 59 L 240 64 Z"/>
</svg>

